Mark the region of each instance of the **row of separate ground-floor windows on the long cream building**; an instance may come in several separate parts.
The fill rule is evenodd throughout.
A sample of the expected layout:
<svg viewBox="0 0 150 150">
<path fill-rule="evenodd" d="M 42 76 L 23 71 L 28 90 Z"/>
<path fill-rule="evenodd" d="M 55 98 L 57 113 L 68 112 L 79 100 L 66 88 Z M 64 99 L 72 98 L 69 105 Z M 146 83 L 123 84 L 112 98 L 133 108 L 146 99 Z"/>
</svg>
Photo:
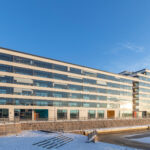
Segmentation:
<svg viewBox="0 0 150 150">
<path fill-rule="evenodd" d="M 33 117 L 35 120 L 38 119 L 87 119 L 80 117 L 80 111 L 79 110 L 67 110 L 67 109 L 57 109 L 57 118 L 55 115 L 53 118 L 48 118 L 48 110 L 34 110 L 34 116 L 32 113 L 32 109 L 15 109 L 14 110 L 14 117 L 19 119 L 26 119 L 31 120 Z M 69 112 L 69 114 L 68 114 Z M 105 111 L 104 110 L 88 110 L 87 112 L 88 119 L 98 119 L 98 118 L 104 118 L 105 117 Z M 69 116 L 68 116 L 69 115 Z M 124 111 L 122 112 L 122 117 L 132 117 L 131 111 Z M 0 118 L 9 118 L 9 110 L 8 109 L 0 109 Z"/>
</svg>

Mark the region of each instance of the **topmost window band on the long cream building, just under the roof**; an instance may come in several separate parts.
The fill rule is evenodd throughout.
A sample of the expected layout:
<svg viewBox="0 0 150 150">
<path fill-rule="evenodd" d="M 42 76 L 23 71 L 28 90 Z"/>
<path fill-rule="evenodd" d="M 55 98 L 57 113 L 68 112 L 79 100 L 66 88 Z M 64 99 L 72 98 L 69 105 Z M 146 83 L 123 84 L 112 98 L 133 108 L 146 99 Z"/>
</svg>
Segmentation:
<svg viewBox="0 0 150 150">
<path fill-rule="evenodd" d="M 125 78 L 118 78 L 115 76 L 106 75 L 106 74 L 102 74 L 102 73 L 88 72 L 88 71 L 73 68 L 73 67 L 69 68 L 69 67 L 63 66 L 63 65 L 52 64 L 52 63 L 47 63 L 47 62 L 42 62 L 42 61 L 37 61 L 37 60 L 31 60 L 31 59 L 18 57 L 18 56 L 12 56 L 9 54 L 4 54 L 4 53 L 0 53 L 0 59 L 5 60 L 5 61 L 11 61 L 11 62 L 32 65 L 32 66 L 36 66 L 36 67 L 55 69 L 55 70 L 59 70 L 59 71 L 65 71 L 65 72 L 70 72 L 70 73 L 75 73 L 75 74 L 82 74 L 82 75 L 86 75 L 86 76 L 98 77 L 98 78 L 103 78 L 103 79 L 108 79 L 108 80 L 113 80 L 113 81 L 132 83 L 132 80 L 125 79 Z"/>
</svg>

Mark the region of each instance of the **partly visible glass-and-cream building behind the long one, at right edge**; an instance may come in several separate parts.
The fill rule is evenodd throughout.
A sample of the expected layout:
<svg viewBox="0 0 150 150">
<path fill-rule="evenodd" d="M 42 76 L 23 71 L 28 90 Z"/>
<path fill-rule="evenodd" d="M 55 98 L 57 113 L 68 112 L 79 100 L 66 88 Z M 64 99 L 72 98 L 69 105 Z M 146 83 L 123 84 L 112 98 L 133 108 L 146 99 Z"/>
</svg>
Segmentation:
<svg viewBox="0 0 150 150">
<path fill-rule="evenodd" d="M 126 74 L 137 78 L 133 82 L 133 109 L 134 117 L 150 117 L 150 70 L 142 69 Z"/>
</svg>

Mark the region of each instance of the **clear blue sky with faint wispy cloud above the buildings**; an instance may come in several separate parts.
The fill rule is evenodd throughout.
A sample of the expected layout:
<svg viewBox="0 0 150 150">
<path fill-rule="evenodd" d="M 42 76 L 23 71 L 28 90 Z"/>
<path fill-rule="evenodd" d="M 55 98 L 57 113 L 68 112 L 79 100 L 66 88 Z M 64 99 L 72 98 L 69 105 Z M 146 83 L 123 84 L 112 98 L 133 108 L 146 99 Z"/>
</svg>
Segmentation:
<svg viewBox="0 0 150 150">
<path fill-rule="evenodd" d="M 0 47 L 114 73 L 150 69 L 150 0 L 0 0 Z"/>
</svg>

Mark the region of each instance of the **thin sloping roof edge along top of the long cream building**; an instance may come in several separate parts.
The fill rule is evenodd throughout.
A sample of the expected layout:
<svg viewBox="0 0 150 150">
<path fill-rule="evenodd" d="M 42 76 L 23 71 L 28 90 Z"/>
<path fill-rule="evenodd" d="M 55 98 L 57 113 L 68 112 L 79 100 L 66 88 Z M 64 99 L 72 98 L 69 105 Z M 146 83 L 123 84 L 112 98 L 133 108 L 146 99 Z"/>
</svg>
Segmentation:
<svg viewBox="0 0 150 150">
<path fill-rule="evenodd" d="M 133 78 L 134 79 L 134 77 L 131 77 L 131 76 L 126 76 L 126 75 L 122 75 L 122 74 L 118 74 L 118 73 L 112 73 L 112 72 L 108 72 L 108 71 L 104 71 L 104 70 L 100 70 L 100 69 L 95 69 L 95 68 L 92 68 L 92 67 L 87 67 L 87 66 L 84 66 L 84 65 L 73 64 L 73 63 L 60 61 L 60 60 L 57 60 L 57 59 L 48 58 L 48 57 L 44 57 L 44 56 L 39 56 L 39 55 L 35 55 L 35 54 L 30 54 L 30 53 L 26 53 L 26 52 L 14 50 L 14 49 L 1 47 L 1 46 L 0 46 L 0 49 L 9 50 L 9 51 L 12 51 L 12 52 L 22 53 L 22 54 L 26 54 L 26 55 L 31 55 L 31 56 L 35 56 L 35 57 L 40 57 L 40 58 L 44 58 L 44 59 L 54 60 L 54 61 L 58 61 L 58 62 L 62 62 L 62 63 L 67 63 L 67 64 L 70 64 L 70 65 L 76 65 L 76 66 L 85 67 L 85 68 L 88 68 L 88 69 L 93 69 L 93 70 L 96 70 L 96 71 L 102 71 L 102 72 L 105 72 L 105 73 L 111 73 L 111 74 L 114 74 L 114 75 L 119 75 L 119 76 L 123 76 L 123 77 L 128 77 L 128 78 Z"/>
</svg>

